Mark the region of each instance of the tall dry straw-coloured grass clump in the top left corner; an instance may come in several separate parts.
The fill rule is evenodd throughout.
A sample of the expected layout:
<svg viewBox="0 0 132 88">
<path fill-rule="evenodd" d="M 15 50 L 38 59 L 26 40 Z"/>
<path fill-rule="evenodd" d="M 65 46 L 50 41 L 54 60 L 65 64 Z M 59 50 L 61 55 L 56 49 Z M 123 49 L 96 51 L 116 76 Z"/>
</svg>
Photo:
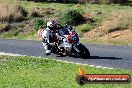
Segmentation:
<svg viewBox="0 0 132 88">
<path fill-rule="evenodd" d="M 0 0 L 0 21 L 12 22 L 22 19 L 23 9 L 18 0 Z"/>
</svg>

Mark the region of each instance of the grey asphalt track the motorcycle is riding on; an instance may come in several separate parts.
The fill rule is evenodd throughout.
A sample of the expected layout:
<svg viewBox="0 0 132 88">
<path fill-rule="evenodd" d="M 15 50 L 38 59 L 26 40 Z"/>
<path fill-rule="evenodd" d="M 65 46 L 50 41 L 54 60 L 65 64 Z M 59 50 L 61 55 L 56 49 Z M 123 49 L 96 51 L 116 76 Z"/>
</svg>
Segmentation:
<svg viewBox="0 0 132 88">
<path fill-rule="evenodd" d="M 92 64 L 95 66 L 132 70 L 132 47 L 95 44 L 86 44 L 85 46 L 91 53 L 91 57 L 89 59 L 81 59 L 77 56 L 60 57 L 54 54 L 46 56 L 41 42 L 30 40 L 0 39 L 0 52 L 28 56 L 41 56 L 75 63 L 78 62 L 82 64 Z"/>
</svg>

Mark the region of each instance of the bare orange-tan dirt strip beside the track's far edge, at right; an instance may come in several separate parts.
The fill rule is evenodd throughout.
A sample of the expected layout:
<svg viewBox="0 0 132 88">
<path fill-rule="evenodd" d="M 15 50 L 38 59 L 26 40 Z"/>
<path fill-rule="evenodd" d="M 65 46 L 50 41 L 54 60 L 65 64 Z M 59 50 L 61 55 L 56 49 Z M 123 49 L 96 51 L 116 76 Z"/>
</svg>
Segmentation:
<svg viewBox="0 0 132 88">
<path fill-rule="evenodd" d="M 131 29 L 114 31 L 105 35 L 94 30 L 86 33 L 84 38 L 87 40 L 100 40 L 105 44 L 132 45 Z"/>
</svg>

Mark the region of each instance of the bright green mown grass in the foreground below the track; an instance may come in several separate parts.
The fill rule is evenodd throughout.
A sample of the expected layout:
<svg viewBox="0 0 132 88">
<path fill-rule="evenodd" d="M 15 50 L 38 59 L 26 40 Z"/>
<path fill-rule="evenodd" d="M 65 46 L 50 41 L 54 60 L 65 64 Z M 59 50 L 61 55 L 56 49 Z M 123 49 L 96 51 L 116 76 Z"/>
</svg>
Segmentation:
<svg viewBox="0 0 132 88">
<path fill-rule="evenodd" d="M 28 56 L 0 56 L 0 88 L 131 88 L 130 84 L 76 83 L 78 65 Z M 88 74 L 130 74 L 125 69 L 83 66 Z"/>
</svg>

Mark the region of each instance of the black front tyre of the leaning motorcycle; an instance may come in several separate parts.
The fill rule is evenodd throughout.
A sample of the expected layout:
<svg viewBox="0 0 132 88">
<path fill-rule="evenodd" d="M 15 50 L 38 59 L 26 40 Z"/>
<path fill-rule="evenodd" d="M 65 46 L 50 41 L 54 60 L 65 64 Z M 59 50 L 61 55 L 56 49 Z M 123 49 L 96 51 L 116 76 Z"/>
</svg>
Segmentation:
<svg viewBox="0 0 132 88">
<path fill-rule="evenodd" d="M 90 52 L 89 50 L 82 44 L 79 45 L 80 47 L 80 53 L 79 55 L 83 58 L 83 59 L 87 59 L 90 57 Z"/>
</svg>

